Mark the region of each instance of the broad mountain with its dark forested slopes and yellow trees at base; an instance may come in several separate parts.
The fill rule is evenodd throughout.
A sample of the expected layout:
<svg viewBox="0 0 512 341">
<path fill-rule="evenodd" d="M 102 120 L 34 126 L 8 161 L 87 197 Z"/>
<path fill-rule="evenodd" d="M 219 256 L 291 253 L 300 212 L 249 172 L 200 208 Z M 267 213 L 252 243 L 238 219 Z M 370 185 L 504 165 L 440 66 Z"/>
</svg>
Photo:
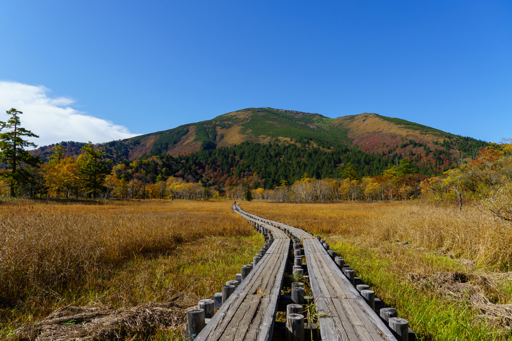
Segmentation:
<svg viewBox="0 0 512 341">
<path fill-rule="evenodd" d="M 331 197 L 345 193 L 355 198 L 364 192 L 368 198 L 408 198 L 420 194 L 423 179 L 455 168 L 486 146 L 374 113 L 330 119 L 318 113 L 248 108 L 122 141 L 41 147 L 32 153 L 47 164 L 42 171 L 31 170 L 36 176 L 27 190 L 67 197 L 94 197 L 104 191 L 119 198 L 197 198 L 211 193 L 237 197 L 245 186 L 280 189 L 275 193 L 282 200 L 287 185 L 313 181 L 319 186 L 325 181 L 314 181 L 330 179 Z M 94 150 L 104 160 L 101 167 L 110 170 L 101 175 L 104 184 L 87 185 L 84 162 Z M 361 192 L 363 185 L 369 190 Z"/>
</svg>

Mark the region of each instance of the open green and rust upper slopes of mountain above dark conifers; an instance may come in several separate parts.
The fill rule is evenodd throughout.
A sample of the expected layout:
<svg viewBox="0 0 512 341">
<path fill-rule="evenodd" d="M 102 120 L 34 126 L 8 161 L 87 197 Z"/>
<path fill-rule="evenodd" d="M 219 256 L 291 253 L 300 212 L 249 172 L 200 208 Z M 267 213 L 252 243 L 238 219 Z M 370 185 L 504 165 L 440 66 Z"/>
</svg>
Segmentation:
<svg viewBox="0 0 512 341">
<path fill-rule="evenodd" d="M 487 144 L 375 113 L 331 119 L 319 113 L 267 107 L 228 112 L 212 120 L 101 145 L 109 157 L 120 162 L 151 154 L 177 157 L 243 142 L 308 145 L 326 152 L 339 146 L 351 147 L 393 160 L 409 157 L 415 164 L 430 165 L 437 172 Z M 69 154 L 74 154 L 80 144 L 66 145 Z M 49 147 L 39 148 L 42 156 L 48 154 Z"/>
</svg>

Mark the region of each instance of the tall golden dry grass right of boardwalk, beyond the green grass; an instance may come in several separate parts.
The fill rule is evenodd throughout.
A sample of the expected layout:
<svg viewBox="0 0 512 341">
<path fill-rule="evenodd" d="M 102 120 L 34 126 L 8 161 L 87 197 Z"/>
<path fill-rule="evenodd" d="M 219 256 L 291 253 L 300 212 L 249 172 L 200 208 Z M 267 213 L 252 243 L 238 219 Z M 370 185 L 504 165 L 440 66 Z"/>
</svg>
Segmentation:
<svg viewBox="0 0 512 341">
<path fill-rule="evenodd" d="M 373 246 L 405 242 L 498 270 L 508 270 L 512 260 L 512 225 L 471 207 L 460 212 L 422 202 L 243 205 L 248 212 L 313 233 L 350 236 Z"/>
</svg>

